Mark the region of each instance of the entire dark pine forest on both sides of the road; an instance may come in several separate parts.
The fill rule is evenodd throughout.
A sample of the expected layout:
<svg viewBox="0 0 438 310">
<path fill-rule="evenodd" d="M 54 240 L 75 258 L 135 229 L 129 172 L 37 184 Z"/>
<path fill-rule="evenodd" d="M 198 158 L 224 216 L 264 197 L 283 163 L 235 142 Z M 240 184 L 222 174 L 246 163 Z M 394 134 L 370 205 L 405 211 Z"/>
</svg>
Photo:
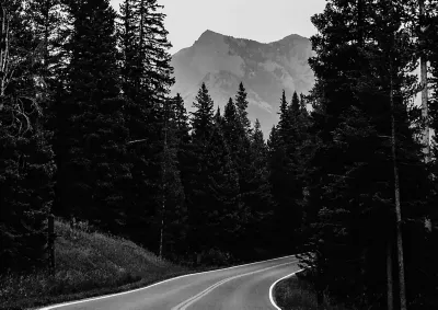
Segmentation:
<svg viewBox="0 0 438 310">
<path fill-rule="evenodd" d="M 170 95 L 157 0 L 1 0 L 0 274 L 54 272 L 55 217 L 180 264 L 301 253 L 321 305 L 436 309 L 437 12 L 327 0 L 315 85 L 263 137 L 242 83 L 223 111 Z"/>
</svg>

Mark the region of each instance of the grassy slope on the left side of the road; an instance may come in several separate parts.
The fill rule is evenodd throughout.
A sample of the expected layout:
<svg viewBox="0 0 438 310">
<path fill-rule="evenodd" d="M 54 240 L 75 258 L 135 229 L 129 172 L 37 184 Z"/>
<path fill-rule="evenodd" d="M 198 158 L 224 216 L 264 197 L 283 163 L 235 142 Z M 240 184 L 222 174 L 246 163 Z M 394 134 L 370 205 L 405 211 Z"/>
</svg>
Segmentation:
<svg viewBox="0 0 438 310">
<path fill-rule="evenodd" d="M 188 274 L 128 240 L 56 221 L 56 274 L 0 278 L 0 309 L 28 309 L 134 289 Z"/>
</svg>

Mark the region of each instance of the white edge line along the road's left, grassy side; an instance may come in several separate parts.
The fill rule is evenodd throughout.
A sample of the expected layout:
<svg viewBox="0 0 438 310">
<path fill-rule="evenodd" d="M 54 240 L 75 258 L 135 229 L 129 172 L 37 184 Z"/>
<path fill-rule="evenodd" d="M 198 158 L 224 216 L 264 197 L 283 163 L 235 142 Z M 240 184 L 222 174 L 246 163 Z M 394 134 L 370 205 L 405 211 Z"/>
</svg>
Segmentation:
<svg viewBox="0 0 438 310">
<path fill-rule="evenodd" d="M 39 310 L 51 310 L 51 309 L 56 309 L 56 308 L 59 308 L 59 307 L 72 306 L 72 305 L 77 305 L 77 303 L 82 303 L 82 302 L 88 302 L 88 301 L 94 301 L 94 300 L 116 297 L 116 296 L 120 296 L 120 295 L 126 295 L 126 294 L 131 294 L 131 292 L 135 292 L 135 291 L 139 291 L 139 290 L 142 290 L 142 289 L 148 289 L 148 288 L 151 288 L 153 286 L 157 286 L 157 285 L 160 285 L 160 284 L 163 284 L 163 283 L 168 283 L 168 282 L 171 282 L 171 280 L 175 280 L 175 279 L 178 279 L 178 278 L 184 278 L 184 277 L 195 276 L 195 275 L 203 275 L 203 274 L 215 273 L 215 272 L 222 272 L 222 271 L 233 269 L 233 268 L 243 267 L 243 266 L 251 266 L 251 265 L 255 265 L 255 264 L 261 264 L 261 263 L 266 263 L 266 262 L 272 262 L 272 261 L 278 261 L 278 260 L 283 260 L 283 259 L 287 259 L 287 257 L 292 257 L 292 256 L 296 256 L 296 255 L 297 254 L 283 256 L 283 257 L 278 257 L 278 259 L 261 261 L 261 262 L 254 262 L 254 263 L 251 263 L 251 264 L 243 264 L 243 265 L 232 266 L 232 267 L 228 267 L 228 268 L 221 268 L 221 269 L 214 269 L 214 271 L 208 271 L 208 272 L 182 275 L 182 276 L 169 278 L 169 279 L 165 279 L 165 280 L 162 280 L 162 282 L 159 282 L 159 283 L 146 286 L 146 287 L 136 288 L 136 289 L 132 289 L 132 290 L 127 290 L 127 291 L 122 291 L 122 292 L 116 292 L 116 294 L 111 294 L 111 295 L 104 295 L 104 296 L 100 296 L 100 297 L 85 298 L 85 299 L 76 300 L 76 301 L 69 301 L 69 302 L 64 302 L 64 303 L 57 303 L 57 305 L 48 306 L 48 307 L 45 307 L 45 308 L 37 308 L 37 309 L 39 309 Z"/>
</svg>

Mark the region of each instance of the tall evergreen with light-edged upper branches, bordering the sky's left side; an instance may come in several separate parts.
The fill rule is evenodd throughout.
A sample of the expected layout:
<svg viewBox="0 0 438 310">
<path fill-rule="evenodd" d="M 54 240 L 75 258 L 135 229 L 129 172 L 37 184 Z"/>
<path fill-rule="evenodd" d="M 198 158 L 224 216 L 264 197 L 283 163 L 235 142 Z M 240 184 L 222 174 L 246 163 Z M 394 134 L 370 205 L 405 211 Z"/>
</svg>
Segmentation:
<svg viewBox="0 0 438 310">
<path fill-rule="evenodd" d="M 129 131 L 129 157 L 132 163 L 130 204 L 128 208 L 128 233 L 132 238 L 159 252 L 161 238 L 161 210 L 163 188 L 164 133 L 169 120 L 165 105 L 171 102 L 172 111 L 178 114 L 184 133 L 185 111 L 181 101 L 168 101 L 171 77 L 171 56 L 164 28 L 165 14 L 157 1 L 125 0 L 118 18 L 118 46 L 120 50 L 122 89 L 128 100 L 125 118 Z M 166 125 L 168 124 L 168 125 Z M 176 137 L 177 140 L 180 137 Z M 187 137 L 183 143 L 187 143 Z M 184 140 L 183 139 L 183 140 Z M 181 152 L 177 151 L 177 157 Z M 176 163 L 175 163 L 176 164 Z M 178 164 L 175 165 L 178 170 Z M 175 171 L 178 174 L 178 172 Z M 182 198 L 182 196 L 180 196 Z M 148 229 L 143 229 L 148 227 Z M 139 232 L 141 231 L 141 232 Z"/>
</svg>

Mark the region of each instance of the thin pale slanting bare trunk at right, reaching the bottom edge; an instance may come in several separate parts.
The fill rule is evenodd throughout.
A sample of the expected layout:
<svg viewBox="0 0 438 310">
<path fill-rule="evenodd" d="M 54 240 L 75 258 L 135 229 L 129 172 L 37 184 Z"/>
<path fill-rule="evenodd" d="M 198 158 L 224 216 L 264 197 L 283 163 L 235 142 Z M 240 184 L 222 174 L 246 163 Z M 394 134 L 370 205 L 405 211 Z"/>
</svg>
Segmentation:
<svg viewBox="0 0 438 310">
<path fill-rule="evenodd" d="M 396 159 L 396 139 L 395 139 L 395 106 L 393 94 L 392 65 L 390 64 L 390 103 L 391 103 L 391 151 L 394 169 L 394 194 L 395 194 L 395 215 L 396 215 L 396 245 L 399 257 L 399 283 L 400 283 L 400 309 L 406 310 L 406 288 L 404 282 L 404 262 L 403 262 L 403 239 L 402 239 L 402 209 L 400 203 L 400 180 Z"/>
</svg>

